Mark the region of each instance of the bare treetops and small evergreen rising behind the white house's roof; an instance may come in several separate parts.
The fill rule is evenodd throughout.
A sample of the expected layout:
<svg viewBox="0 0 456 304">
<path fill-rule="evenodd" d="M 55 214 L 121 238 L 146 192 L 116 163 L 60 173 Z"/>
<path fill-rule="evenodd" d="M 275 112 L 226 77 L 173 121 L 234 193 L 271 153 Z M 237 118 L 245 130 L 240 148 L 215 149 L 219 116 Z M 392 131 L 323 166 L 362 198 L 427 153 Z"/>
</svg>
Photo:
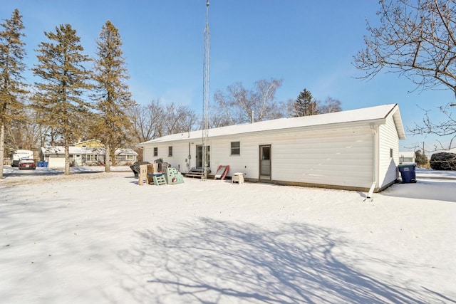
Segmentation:
<svg viewBox="0 0 456 304">
<path fill-rule="evenodd" d="M 275 96 L 281 84 L 282 80 L 271 78 L 257 80 L 252 89 L 237 82 L 225 91 L 216 90 L 209 105 L 209 127 L 341 111 L 339 100 L 328 97 L 322 102 L 306 89 L 296 99 L 278 101 Z M 201 129 L 200 116 L 185 105 L 152 100 L 147 105 L 136 105 L 129 113 L 138 142 Z"/>
</svg>

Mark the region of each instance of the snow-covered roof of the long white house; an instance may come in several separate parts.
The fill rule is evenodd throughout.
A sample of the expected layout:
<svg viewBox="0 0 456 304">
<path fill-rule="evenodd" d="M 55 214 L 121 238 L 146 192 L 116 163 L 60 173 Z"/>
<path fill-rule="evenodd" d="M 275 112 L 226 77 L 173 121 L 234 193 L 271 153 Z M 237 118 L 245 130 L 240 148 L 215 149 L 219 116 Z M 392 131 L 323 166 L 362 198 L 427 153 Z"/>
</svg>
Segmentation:
<svg viewBox="0 0 456 304">
<path fill-rule="evenodd" d="M 395 122 L 396 130 L 398 130 L 399 138 L 401 140 L 405 139 L 405 131 L 400 117 L 399 106 L 397 104 L 378 105 L 371 108 L 303 117 L 280 118 L 277 120 L 254 122 L 252 124 L 217 127 L 209 129 L 208 134 L 209 137 L 218 137 L 268 130 L 286 130 L 296 127 L 323 127 L 325 125 L 342 125 L 348 123 L 374 123 L 381 125 L 385 123 L 386 117 L 389 115 L 393 115 L 393 120 Z M 200 138 L 202 138 L 202 130 L 167 135 L 154 140 L 149 140 L 147 142 L 141 142 L 139 146 L 142 147 L 143 145 L 150 145 L 158 142 L 172 142 L 177 140 L 192 140 Z"/>
</svg>

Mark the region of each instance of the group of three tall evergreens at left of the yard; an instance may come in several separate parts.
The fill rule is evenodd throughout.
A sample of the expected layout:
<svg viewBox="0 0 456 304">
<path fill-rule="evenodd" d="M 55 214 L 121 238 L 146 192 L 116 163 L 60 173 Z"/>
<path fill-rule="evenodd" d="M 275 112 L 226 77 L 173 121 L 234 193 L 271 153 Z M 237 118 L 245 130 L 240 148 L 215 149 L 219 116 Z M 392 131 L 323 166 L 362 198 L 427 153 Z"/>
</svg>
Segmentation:
<svg viewBox="0 0 456 304">
<path fill-rule="evenodd" d="M 95 58 L 84 53 L 70 24 L 44 32 L 38 44 L 38 63 L 31 68 L 36 83 L 26 83 L 24 24 L 19 10 L 0 24 L 0 174 L 5 154 L 39 146 L 65 147 L 65 174 L 70 172 L 69 146 L 97 138 L 105 145 L 105 159 L 128 144 L 133 125 L 126 110 L 135 105 L 118 29 L 106 21 Z M 110 171 L 109 161 L 105 170 Z"/>
</svg>

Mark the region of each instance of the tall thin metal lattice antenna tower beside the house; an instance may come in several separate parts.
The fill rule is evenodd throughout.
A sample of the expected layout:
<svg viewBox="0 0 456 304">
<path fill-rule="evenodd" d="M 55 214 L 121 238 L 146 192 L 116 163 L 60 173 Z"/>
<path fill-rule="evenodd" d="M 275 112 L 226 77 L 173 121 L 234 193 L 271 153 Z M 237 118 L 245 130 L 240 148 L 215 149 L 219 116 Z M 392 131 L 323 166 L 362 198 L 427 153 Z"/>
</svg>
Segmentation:
<svg viewBox="0 0 456 304">
<path fill-rule="evenodd" d="M 206 0 L 206 28 L 204 28 L 203 100 L 202 100 L 202 179 L 207 179 L 209 167 L 209 0 Z"/>
</svg>

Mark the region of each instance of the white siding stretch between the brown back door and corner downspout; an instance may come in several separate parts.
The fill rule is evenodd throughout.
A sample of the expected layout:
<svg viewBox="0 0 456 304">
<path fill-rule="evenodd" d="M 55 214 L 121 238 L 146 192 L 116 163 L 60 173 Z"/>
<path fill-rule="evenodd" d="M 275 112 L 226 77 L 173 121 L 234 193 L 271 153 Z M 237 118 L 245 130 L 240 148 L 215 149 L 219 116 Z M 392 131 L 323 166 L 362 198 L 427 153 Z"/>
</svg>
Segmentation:
<svg viewBox="0 0 456 304">
<path fill-rule="evenodd" d="M 272 179 L 345 187 L 372 184 L 369 129 L 282 134 L 272 143 Z"/>
</svg>

